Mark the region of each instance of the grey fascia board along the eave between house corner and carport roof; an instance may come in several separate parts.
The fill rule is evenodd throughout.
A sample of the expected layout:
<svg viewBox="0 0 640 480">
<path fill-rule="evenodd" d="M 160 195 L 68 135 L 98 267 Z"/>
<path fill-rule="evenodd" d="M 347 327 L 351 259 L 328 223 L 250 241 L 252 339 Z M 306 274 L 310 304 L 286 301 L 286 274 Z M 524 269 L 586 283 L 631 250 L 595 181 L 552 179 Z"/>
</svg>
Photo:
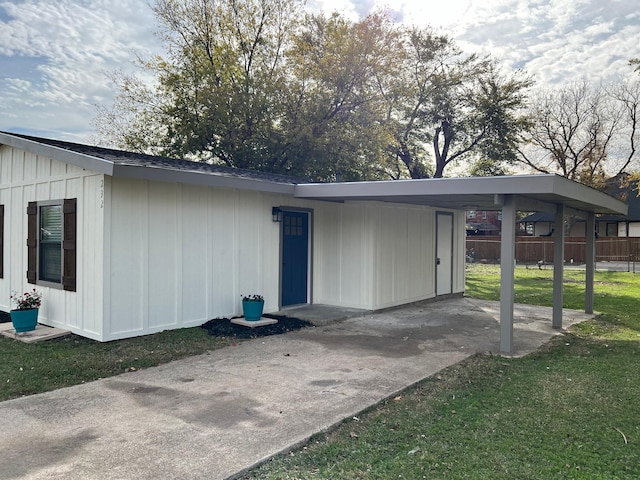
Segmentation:
<svg viewBox="0 0 640 480">
<path fill-rule="evenodd" d="M 291 183 L 277 183 L 267 180 L 257 180 L 254 178 L 229 177 L 188 170 L 171 170 L 148 166 L 143 167 L 139 165 L 115 165 L 113 176 L 168 183 L 226 187 L 238 190 L 253 190 L 258 192 L 281 193 L 288 195 L 293 195 L 295 188 L 295 185 Z"/>
</svg>

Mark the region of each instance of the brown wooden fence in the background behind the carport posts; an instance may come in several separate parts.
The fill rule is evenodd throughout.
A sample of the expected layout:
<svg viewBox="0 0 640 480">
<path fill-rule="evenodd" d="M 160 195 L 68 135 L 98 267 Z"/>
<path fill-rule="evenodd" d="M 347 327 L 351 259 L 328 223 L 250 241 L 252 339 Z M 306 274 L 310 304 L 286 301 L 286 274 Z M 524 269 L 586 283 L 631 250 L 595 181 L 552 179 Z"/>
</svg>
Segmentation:
<svg viewBox="0 0 640 480">
<path fill-rule="evenodd" d="M 565 237 L 564 260 L 585 262 L 585 238 Z M 516 261 L 524 264 L 552 263 L 553 237 L 516 237 Z M 467 237 L 467 259 L 500 261 L 500 237 Z M 639 262 L 640 237 L 596 238 L 596 262 Z"/>
</svg>

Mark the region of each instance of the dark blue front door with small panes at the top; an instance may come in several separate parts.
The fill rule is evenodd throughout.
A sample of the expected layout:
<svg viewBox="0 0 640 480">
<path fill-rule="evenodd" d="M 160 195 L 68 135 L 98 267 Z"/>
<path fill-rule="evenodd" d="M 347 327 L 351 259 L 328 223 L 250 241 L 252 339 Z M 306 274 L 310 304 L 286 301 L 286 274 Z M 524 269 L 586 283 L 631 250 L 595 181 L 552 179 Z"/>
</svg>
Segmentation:
<svg viewBox="0 0 640 480">
<path fill-rule="evenodd" d="M 282 212 L 282 306 L 308 303 L 309 213 Z"/>
</svg>

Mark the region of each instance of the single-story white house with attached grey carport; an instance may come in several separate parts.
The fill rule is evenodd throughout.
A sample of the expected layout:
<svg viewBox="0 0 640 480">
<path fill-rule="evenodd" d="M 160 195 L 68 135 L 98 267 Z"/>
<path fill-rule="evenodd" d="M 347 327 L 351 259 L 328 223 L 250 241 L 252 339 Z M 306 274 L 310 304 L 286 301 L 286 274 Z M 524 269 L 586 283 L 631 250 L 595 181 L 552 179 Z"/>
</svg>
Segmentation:
<svg viewBox="0 0 640 480">
<path fill-rule="evenodd" d="M 532 207 L 626 213 L 556 175 L 313 184 L 0 132 L 0 309 L 36 287 L 41 323 L 109 341 L 240 315 L 243 294 L 264 295 L 266 312 L 461 295 L 465 210 L 478 208 L 502 211 L 508 352 L 505 232 Z"/>
</svg>

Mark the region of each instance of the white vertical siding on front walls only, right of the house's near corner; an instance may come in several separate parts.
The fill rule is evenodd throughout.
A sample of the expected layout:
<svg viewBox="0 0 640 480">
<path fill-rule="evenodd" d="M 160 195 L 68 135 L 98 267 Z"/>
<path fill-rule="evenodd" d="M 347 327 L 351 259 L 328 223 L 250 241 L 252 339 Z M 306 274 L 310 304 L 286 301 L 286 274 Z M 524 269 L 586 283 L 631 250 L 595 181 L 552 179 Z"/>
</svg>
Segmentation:
<svg viewBox="0 0 640 480">
<path fill-rule="evenodd" d="M 109 339 L 240 315 L 242 294 L 260 293 L 265 311 L 277 310 L 273 206 L 313 212 L 314 303 L 377 309 L 435 295 L 434 210 L 124 178 L 107 185 Z"/>
</svg>

